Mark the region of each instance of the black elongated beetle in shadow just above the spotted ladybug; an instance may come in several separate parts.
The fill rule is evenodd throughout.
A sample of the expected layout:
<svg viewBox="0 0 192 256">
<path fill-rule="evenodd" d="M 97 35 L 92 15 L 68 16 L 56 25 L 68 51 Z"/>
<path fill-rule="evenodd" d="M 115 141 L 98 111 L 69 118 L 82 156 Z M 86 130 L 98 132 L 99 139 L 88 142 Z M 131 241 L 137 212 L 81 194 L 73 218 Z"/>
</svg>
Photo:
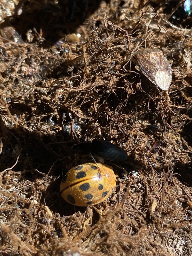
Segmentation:
<svg viewBox="0 0 192 256">
<path fill-rule="evenodd" d="M 111 142 L 103 140 L 80 142 L 74 145 L 72 149 L 74 151 L 80 151 L 83 154 L 96 155 L 112 162 L 123 162 L 128 159 L 126 151 Z"/>
</svg>

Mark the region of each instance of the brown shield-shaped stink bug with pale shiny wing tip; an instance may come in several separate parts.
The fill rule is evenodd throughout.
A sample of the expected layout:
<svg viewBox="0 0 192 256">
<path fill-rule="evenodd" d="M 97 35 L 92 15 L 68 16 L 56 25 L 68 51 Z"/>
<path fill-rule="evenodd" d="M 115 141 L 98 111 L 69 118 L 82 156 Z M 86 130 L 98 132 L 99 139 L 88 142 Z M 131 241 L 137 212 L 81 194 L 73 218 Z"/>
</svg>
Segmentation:
<svg viewBox="0 0 192 256">
<path fill-rule="evenodd" d="M 136 52 L 140 70 L 156 86 L 168 90 L 172 81 L 172 71 L 163 52 L 159 49 L 142 49 Z"/>
</svg>

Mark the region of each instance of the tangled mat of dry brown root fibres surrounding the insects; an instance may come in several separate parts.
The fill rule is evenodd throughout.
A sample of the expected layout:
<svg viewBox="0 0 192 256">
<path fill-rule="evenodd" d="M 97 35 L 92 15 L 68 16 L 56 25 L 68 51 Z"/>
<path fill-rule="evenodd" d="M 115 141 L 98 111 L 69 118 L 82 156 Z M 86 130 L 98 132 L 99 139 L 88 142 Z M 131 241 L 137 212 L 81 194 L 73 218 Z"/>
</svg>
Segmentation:
<svg viewBox="0 0 192 256">
<path fill-rule="evenodd" d="M 1 255 L 192 255 L 192 25 L 172 3 L 0 1 Z M 145 47 L 173 60 L 168 91 L 130 62 Z M 142 182 L 119 174 L 107 202 L 74 207 L 65 163 L 95 138 Z"/>
</svg>

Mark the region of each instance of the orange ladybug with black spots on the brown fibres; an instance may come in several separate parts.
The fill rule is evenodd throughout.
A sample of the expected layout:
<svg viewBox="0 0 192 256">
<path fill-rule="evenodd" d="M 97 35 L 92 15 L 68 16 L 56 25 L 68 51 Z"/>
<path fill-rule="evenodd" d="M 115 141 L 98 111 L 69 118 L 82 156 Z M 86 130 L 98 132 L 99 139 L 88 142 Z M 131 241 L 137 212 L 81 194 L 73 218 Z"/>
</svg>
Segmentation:
<svg viewBox="0 0 192 256">
<path fill-rule="evenodd" d="M 63 178 L 60 192 L 72 205 L 96 205 L 106 200 L 116 185 L 111 166 L 101 162 L 83 163 L 71 168 Z"/>
</svg>

